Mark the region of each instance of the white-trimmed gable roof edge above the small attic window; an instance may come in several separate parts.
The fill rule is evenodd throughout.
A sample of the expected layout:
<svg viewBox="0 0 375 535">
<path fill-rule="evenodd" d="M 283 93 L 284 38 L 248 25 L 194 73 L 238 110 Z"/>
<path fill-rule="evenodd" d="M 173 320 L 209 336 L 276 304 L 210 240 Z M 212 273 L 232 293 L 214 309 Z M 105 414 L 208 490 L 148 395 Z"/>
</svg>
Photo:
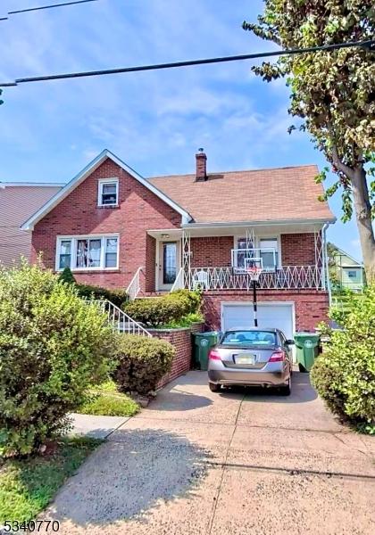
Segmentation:
<svg viewBox="0 0 375 535">
<path fill-rule="evenodd" d="M 171 206 L 173 210 L 176 210 L 182 218 L 183 223 L 188 223 L 191 220 L 190 214 L 179 206 L 179 203 L 172 200 L 166 193 L 162 192 L 156 185 L 152 184 L 146 178 L 141 177 L 137 171 L 131 169 L 124 161 L 121 161 L 120 158 L 115 156 L 111 151 L 104 149 L 103 152 L 100 152 L 94 158 L 93 161 L 82 169 L 78 175 L 71 179 L 71 182 L 68 182 L 67 185 L 64 185 L 58 193 L 52 197 L 46 204 L 44 204 L 37 212 L 31 216 L 23 225 L 21 226 L 22 230 L 33 230 L 34 226 L 37 224 L 40 219 L 44 218 L 46 214 L 53 210 L 59 202 L 62 202 L 65 197 L 67 197 L 79 184 L 81 184 L 85 178 L 87 178 L 93 171 L 95 171 L 107 158 L 116 163 L 121 169 L 124 169 L 129 175 L 135 178 L 140 184 L 144 185 L 149 191 L 154 193 L 157 197 L 162 199 L 163 202 Z"/>
</svg>

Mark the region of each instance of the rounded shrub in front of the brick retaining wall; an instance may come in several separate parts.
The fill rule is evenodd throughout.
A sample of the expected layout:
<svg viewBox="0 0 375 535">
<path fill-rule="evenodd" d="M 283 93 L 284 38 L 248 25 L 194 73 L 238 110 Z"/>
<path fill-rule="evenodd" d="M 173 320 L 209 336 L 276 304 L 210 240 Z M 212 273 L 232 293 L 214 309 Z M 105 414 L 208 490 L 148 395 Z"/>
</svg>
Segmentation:
<svg viewBox="0 0 375 535">
<path fill-rule="evenodd" d="M 171 370 L 175 349 L 169 342 L 133 334 L 118 336 L 114 379 L 121 391 L 147 395 Z"/>
</svg>

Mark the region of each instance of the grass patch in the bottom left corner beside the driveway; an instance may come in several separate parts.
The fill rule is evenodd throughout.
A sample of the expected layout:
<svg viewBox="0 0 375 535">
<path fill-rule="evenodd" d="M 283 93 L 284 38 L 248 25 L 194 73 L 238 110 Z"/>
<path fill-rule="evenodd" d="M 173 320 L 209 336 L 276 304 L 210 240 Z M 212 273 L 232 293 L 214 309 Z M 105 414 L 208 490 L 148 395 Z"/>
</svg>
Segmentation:
<svg viewBox="0 0 375 535">
<path fill-rule="evenodd" d="M 63 439 L 53 455 L 0 458 L 0 525 L 35 519 L 101 440 Z"/>
</svg>

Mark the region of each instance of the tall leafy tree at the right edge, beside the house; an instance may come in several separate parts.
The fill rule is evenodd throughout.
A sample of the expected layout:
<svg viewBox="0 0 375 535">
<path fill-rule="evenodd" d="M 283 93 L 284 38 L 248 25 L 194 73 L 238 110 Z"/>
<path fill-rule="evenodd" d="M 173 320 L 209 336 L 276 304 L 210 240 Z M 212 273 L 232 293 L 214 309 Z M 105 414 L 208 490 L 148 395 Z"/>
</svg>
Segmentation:
<svg viewBox="0 0 375 535">
<path fill-rule="evenodd" d="M 366 41 L 375 34 L 373 0 L 264 0 L 243 28 L 282 48 Z M 375 62 L 368 46 L 282 56 L 254 67 L 263 80 L 287 77 L 289 113 L 312 135 L 337 175 L 321 200 L 342 188 L 343 221 L 353 205 L 368 281 L 375 278 Z M 289 132 L 296 126 L 289 128 Z M 316 178 L 323 181 L 325 168 Z"/>
</svg>

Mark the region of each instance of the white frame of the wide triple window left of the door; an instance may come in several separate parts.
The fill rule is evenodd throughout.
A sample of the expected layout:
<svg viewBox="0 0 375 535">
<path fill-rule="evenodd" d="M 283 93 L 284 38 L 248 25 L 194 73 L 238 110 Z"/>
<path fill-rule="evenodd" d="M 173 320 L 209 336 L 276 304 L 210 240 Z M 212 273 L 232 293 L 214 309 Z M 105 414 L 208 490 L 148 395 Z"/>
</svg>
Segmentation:
<svg viewBox="0 0 375 535">
<path fill-rule="evenodd" d="M 117 238 L 117 263 L 116 266 L 111 266 L 105 268 L 105 252 L 107 247 L 108 238 Z M 120 251 L 120 235 L 119 234 L 99 234 L 99 235 L 64 235 L 56 237 L 56 258 L 55 258 L 55 271 L 63 271 L 63 268 L 60 268 L 60 251 L 61 243 L 71 240 L 71 271 L 111 271 L 113 269 L 119 269 L 119 251 Z M 79 240 L 100 240 L 100 266 L 96 268 L 76 268 L 77 261 L 77 243 Z"/>
</svg>

